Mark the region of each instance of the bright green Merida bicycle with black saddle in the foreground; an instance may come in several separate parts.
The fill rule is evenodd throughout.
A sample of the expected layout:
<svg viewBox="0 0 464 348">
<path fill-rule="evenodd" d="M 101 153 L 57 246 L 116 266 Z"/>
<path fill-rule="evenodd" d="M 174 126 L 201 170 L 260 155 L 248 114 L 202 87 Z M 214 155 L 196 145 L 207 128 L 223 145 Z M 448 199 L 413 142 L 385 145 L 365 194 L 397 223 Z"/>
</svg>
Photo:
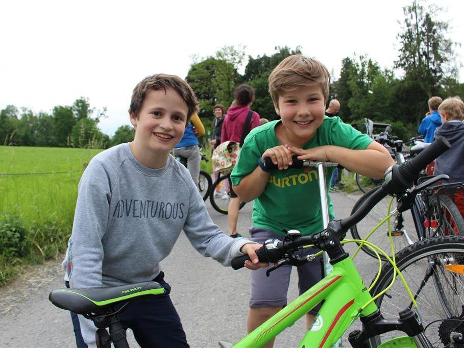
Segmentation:
<svg viewBox="0 0 464 348">
<path fill-rule="evenodd" d="M 327 252 L 333 271 L 233 346 L 262 346 L 321 302 L 319 314 L 303 337 L 300 347 L 333 346 L 358 318 L 362 322 L 362 330 L 353 331 L 348 337 L 354 347 L 451 347 L 464 343 L 463 237 L 430 238 L 409 246 L 397 255 L 396 262 L 388 258 L 392 263 L 384 264 L 369 288 L 364 285 L 344 250 L 343 244 L 348 241 L 340 242 L 340 236 L 364 218 L 386 194 L 401 194 L 412 185 L 420 169 L 443 153 L 447 146 L 449 143 L 441 138 L 415 159 L 394 166 L 387 173 L 382 188 L 373 193 L 356 212 L 343 220 L 331 220 L 322 232 L 301 236 L 298 231 L 290 230 L 283 241 L 266 241 L 258 250 L 258 256 L 263 262 L 275 263 L 268 269 L 268 274 L 283 264 L 310 262 L 312 257 L 301 259 L 294 253 L 311 244 L 320 248 L 321 253 Z M 320 183 L 325 186 L 324 180 Z M 376 250 L 373 244 L 367 241 L 363 243 Z M 387 257 L 385 252 L 377 252 Z M 232 266 L 242 267 L 245 258 L 233 260 Z M 416 277 L 410 283 L 413 289 L 409 289 L 409 296 L 405 297 L 407 300 L 403 300 L 403 294 L 396 287 L 396 280 L 403 278 L 402 274 Z M 397 292 L 390 292 L 393 291 L 390 289 Z M 117 287 L 58 289 L 50 293 L 49 299 L 59 308 L 93 320 L 99 328 L 98 346 L 109 347 L 111 341 L 120 348 L 128 344 L 114 306 L 124 304 L 118 310 L 121 311 L 132 300 L 163 292 L 164 289 L 156 282 L 142 282 Z M 395 301 L 397 296 L 398 302 Z M 400 302 L 404 306 L 395 308 L 392 317 L 384 317 L 384 308 L 389 310 L 388 305 L 395 306 Z M 431 329 L 435 322 L 439 323 L 437 331 Z M 109 334 L 106 328 L 109 328 Z M 219 344 L 232 346 L 227 342 Z"/>
</svg>

